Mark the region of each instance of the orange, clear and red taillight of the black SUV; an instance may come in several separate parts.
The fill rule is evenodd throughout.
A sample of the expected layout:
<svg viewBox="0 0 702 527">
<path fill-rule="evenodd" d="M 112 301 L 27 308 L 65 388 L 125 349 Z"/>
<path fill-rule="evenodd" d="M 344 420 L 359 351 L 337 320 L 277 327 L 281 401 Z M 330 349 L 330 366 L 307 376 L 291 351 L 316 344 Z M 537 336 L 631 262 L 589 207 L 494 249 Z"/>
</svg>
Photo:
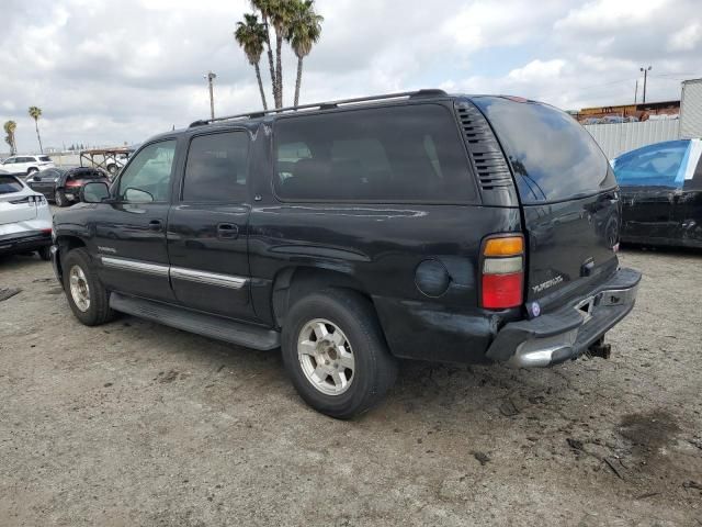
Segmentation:
<svg viewBox="0 0 702 527">
<path fill-rule="evenodd" d="M 483 244 L 483 307 L 505 310 L 521 305 L 524 289 L 524 238 L 490 237 Z"/>
</svg>

